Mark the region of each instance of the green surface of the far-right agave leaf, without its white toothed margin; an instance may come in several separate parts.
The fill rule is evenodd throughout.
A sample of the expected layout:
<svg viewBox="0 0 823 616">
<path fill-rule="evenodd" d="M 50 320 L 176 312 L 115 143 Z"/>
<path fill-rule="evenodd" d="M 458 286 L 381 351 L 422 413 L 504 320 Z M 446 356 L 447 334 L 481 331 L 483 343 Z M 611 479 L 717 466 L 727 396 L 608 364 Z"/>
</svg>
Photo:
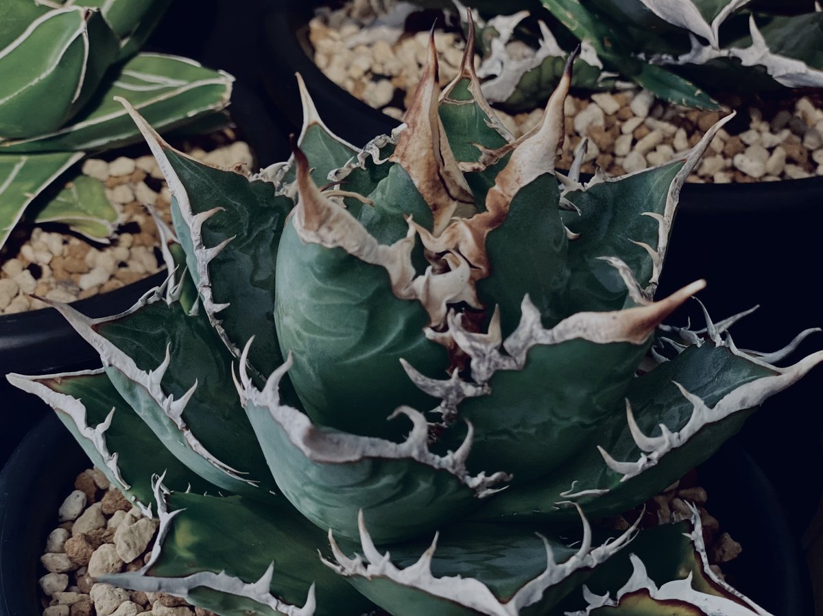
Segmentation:
<svg viewBox="0 0 823 616">
<path fill-rule="evenodd" d="M 726 346 L 706 342 L 691 346 L 675 359 L 667 361 L 642 377 L 635 378 L 625 397 L 644 434 L 659 436 L 659 424 L 675 433 L 692 417 L 694 406 L 674 382 L 680 383 L 709 407 L 730 392 L 760 377 L 774 376 L 774 371 L 744 359 Z M 619 401 L 611 413 L 602 416 L 597 426 L 599 438 L 577 456 L 547 475 L 499 494 L 477 512 L 478 517 L 537 516 L 547 520 L 573 519 L 570 493 L 578 496 L 588 516 L 595 518 L 623 512 L 660 493 L 689 470 L 709 458 L 725 440 L 737 433 L 751 410 L 741 410 L 719 421 L 705 424 L 686 442 L 681 442 L 656 464 L 630 479 L 611 470 L 596 445 L 618 461 L 636 461 L 644 455 L 630 432 L 625 405 Z M 565 503 L 558 508 L 558 503 Z"/>
</svg>

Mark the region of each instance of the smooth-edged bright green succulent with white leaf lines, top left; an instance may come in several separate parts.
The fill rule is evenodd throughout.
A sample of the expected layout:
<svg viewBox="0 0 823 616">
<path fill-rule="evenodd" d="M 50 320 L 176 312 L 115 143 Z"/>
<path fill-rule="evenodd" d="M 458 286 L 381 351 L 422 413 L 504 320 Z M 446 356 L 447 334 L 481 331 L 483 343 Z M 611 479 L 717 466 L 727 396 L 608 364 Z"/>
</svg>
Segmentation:
<svg viewBox="0 0 823 616">
<path fill-rule="evenodd" d="M 60 221 L 107 242 L 118 212 L 102 185 L 43 195 L 86 153 L 140 139 L 114 96 L 160 129 L 205 123 L 228 104 L 232 78 L 186 58 L 135 55 L 169 0 L 9 0 L 0 14 L 0 248 L 37 199 L 36 222 Z M 72 178 L 68 178 L 72 179 Z M 96 183 L 96 187 L 89 186 Z M 40 197 L 38 199 L 38 197 Z"/>
</svg>

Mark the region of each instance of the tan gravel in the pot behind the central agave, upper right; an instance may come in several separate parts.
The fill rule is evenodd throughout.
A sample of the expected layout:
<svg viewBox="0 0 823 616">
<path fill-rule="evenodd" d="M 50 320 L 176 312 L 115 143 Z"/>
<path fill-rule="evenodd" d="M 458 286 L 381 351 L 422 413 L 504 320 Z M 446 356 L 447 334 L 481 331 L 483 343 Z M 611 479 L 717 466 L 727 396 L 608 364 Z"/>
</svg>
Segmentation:
<svg viewBox="0 0 823 616">
<path fill-rule="evenodd" d="M 431 19 L 407 19 L 407 26 L 423 29 L 416 32 L 387 25 L 386 16 L 397 4 L 354 0 L 337 9 L 322 7 L 309 21 L 309 40 L 314 62 L 330 80 L 399 120 L 420 80 Z M 458 74 L 465 40 L 461 31 L 438 29 L 442 24 L 443 19 L 435 24 L 435 45 L 444 86 Z M 481 59 L 476 57 L 475 63 L 479 67 Z M 821 98 L 796 94 L 791 100 L 762 100 L 757 107 L 732 100 L 722 112 L 656 101 L 649 90 L 570 95 L 565 100 L 560 166 L 569 168 L 584 138 L 584 173 L 593 174 L 595 165 L 609 175 L 621 175 L 663 164 L 694 146 L 732 108 L 737 118 L 718 132 L 690 182 L 774 182 L 823 175 Z M 542 109 L 514 115 L 495 110 L 515 137 L 535 126 L 542 114 Z"/>
</svg>

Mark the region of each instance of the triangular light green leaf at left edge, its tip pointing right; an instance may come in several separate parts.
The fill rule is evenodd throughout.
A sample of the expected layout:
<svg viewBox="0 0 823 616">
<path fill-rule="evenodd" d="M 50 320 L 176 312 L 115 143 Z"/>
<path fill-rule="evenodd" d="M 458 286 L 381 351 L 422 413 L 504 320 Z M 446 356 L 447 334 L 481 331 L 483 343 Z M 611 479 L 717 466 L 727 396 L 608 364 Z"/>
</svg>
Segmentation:
<svg viewBox="0 0 823 616">
<path fill-rule="evenodd" d="M 83 152 L 0 154 L 0 248 L 31 201 L 82 157 Z"/>
</svg>

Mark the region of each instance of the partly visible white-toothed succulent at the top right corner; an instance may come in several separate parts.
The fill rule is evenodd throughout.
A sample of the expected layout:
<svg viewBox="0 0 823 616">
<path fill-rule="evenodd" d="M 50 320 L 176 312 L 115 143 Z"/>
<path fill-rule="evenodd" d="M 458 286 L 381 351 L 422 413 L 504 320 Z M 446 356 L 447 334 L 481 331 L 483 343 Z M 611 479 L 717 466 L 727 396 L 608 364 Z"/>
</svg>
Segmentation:
<svg viewBox="0 0 823 616">
<path fill-rule="evenodd" d="M 465 20 L 467 8 L 459 2 Z M 713 96 L 823 87 L 823 13 L 811 2 L 543 0 L 504 2 L 478 37 L 483 92 L 509 109 L 534 109 L 556 85 L 569 50 L 583 45 L 574 86 L 642 86 L 659 99 L 718 109 Z M 519 9 L 514 12 L 513 9 Z M 480 18 L 475 10 L 475 18 Z"/>
</svg>

